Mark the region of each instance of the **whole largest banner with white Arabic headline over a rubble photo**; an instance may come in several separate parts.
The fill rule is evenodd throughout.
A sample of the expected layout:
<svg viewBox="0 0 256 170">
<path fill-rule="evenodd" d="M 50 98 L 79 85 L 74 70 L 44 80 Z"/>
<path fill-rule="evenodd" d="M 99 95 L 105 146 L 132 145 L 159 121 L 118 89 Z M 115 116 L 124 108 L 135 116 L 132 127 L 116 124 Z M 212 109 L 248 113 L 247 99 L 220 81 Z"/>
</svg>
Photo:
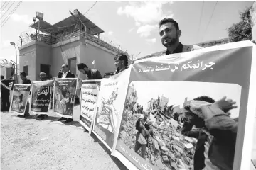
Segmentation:
<svg viewBox="0 0 256 170">
<path fill-rule="evenodd" d="M 251 67 L 250 42 L 138 60 L 112 155 L 128 169 L 241 169 L 245 122 L 255 111 L 248 103 Z M 191 130 L 205 134 L 213 165 L 194 162 L 198 138 Z"/>
</svg>

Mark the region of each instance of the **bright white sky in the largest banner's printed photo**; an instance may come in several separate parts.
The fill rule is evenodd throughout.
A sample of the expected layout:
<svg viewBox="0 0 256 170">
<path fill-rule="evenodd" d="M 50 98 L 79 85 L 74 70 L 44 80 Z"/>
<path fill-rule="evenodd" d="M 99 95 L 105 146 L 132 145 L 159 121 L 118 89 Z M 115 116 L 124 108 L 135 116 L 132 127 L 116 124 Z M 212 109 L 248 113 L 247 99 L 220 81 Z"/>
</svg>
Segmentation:
<svg viewBox="0 0 256 170">
<path fill-rule="evenodd" d="M 199 96 L 209 96 L 215 101 L 227 96 L 236 102 L 238 108 L 230 111 L 231 118 L 237 118 L 239 115 L 239 106 L 241 98 L 241 86 L 237 84 L 222 84 L 222 83 L 204 83 L 191 81 L 135 81 L 134 89 L 137 90 L 137 103 L 147 108 L 147 102 L 151 98 L 164 96 L 169 98 L 167 106 L 180 105 L 183 106 L 184 100 L 187 97 L 188 101 Z M 161 88 L 157 88 L 161 87 Z M 181 90 L 178 90 L 181 89 Z M 149 95 L 150 91 L 150 95 Z"/>
</svg>

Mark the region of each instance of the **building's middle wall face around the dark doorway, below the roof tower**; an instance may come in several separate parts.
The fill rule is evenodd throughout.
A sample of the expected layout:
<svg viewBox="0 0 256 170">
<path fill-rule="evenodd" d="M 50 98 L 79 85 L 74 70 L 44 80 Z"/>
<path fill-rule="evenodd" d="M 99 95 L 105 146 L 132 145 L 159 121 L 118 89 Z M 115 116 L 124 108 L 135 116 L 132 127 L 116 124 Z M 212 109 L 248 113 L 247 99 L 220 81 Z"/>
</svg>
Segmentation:
<svg viewBox="0 0 256 170">
<path fill-rule="evenodd" d="M 76 57 L 79 62 L 80 57 L 80 41 L 74 40 L 73 42 L 65 43 L 62 45 L 53 45 L 52 48 L 52 67 L 51 73 L 53 77 L 58 76 L 58 72 L 62 64 L 68 64 L 68 59 Z M 77 71 L 78 72 L 78 71 Z M 77 74 L 77 73 L 74 73 Z"/>
</svg>

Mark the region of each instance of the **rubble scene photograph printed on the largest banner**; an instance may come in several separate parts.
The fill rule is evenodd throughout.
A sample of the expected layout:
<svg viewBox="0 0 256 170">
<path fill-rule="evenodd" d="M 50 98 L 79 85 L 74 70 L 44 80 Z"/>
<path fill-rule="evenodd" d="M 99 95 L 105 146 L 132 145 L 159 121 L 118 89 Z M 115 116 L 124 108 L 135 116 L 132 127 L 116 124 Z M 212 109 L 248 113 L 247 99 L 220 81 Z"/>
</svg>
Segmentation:
<svg viewBox="0 0 256 170">
<path fill-rule="evenodd" d="M 127 92 L 116 150 L 137 169 L 194 169 L 199 166 L 215 169 L 214 164 L 223 166 L 222 162 L 211 164 L 208 157 L 204 157 L 208 155 L 209 144 L 217 139 L 210 135 L 204 121 L 210 115 L 208 112 L 213 111 L 238 123 L 241 91 L 237 84 L 133 81 Z M 225 100 L 235 101 L 237 107 L 212 108 L 218 104 L 222 106 L 223 101 L 227 104 Z M 216 121 L 208 125 L 219 124 Z M 218 141 L 221 146 L 217 147 L 220 149 L 228 144 L 230 152 L 222 155 L 223 152 L 216 153 L 215 149 L 215 154 L 225 157 L 225 163 L 229 164 L 234 159 L 236 135 L 225 137 L 225 130 L 217 131 L 224 136 L 223 141 Z"/>
</svg>

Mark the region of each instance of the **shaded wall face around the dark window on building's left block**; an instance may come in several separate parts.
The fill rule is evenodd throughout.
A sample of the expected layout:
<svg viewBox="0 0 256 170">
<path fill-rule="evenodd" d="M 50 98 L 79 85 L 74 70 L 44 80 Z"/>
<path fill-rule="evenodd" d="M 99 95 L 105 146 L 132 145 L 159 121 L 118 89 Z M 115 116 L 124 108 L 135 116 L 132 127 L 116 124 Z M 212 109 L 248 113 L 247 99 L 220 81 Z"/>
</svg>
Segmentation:
<svg viewBox="0 0 256 170">
<path fill-rule="evenodd" d="M 40 80 L 40 64 L 48 64 L 54 67 L 52 64 L 52 47 L 51 45 L 46 45 L 43 42 L 36 42 L 36 81 Z"/>
</svg>

